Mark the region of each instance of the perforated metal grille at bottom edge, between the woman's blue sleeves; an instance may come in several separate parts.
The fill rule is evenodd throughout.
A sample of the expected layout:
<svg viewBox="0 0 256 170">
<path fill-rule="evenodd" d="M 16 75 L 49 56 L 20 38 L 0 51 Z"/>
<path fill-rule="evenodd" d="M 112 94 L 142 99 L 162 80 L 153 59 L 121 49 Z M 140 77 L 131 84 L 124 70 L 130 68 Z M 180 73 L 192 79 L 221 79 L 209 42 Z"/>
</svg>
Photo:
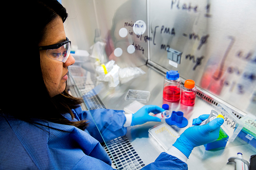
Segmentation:
<svg viewBox="0 0 256 170">
<path fill-rule="evenodd" d="M 112 164 L 119 170 L 138 170 L 145 166 L 125 136 L 106 142 L 104 149 L 109 154 Z"/>
</svg>

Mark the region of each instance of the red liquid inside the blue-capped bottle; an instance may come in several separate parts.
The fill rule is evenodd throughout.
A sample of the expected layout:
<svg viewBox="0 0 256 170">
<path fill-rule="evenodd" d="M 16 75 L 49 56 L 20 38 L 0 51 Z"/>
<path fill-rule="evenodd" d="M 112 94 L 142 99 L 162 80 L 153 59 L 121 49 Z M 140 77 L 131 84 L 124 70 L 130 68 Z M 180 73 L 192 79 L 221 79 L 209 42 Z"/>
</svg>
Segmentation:
<svg viewBox="0 0 256 170">
<path fill-rule="evenodd" d="M 179 101 L 181 89 L 176 86 L 166 86 L 163 88 L 163 99 L 169 102 Z"/>
</svg>

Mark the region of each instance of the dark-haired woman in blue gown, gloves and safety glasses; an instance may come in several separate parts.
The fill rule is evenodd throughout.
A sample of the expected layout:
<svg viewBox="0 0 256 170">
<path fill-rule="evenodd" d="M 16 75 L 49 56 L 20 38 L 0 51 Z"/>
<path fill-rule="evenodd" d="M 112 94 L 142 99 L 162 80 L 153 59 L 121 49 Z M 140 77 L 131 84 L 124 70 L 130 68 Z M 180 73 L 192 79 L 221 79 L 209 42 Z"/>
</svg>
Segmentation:
<svg viewBox="0 0 256 170">
<path fill-rule="evenodd" d="M 1 67 L 5 73 L 1 82 L 0 169 L 112 169 L 98 141 L 102 139 L 90 123 L 91 114 L 78 107 L 81 99 L 66 92 L 68 66 L 75 60 L 64 32 L 65 8 L 55 0 L 32 0 L 11 9 L 16 17 L 6 22 L 9 46 Z M 13 30 L 17 26 L 19 30 Z M 158 106 L 144 106 L 130 118 L 123 111 L 90 112 L 102 118 L 96 123 L 111 139 L 125 135 L 125 126 L 160 121 L 148 113 L 161 111 Z M 200 116 L 194 124 L 207 117 Z M 223 122 L 217 118 L 207 125 L 190 127 L 169 151 L 142 169 L 187 169 L 192 149 L 216 140 Z"/>
</svg>

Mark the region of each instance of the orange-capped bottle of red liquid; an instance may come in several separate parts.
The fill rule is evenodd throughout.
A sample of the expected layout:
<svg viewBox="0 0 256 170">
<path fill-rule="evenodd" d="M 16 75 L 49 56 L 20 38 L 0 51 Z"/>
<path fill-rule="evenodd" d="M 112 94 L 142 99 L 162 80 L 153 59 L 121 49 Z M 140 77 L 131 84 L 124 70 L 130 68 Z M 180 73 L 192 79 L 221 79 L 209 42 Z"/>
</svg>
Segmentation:
<svg viewBox="0 0 256 170">
<path fill-rule="evenodd" d="M 193 106 L 195 104 L 196 92 L 195 81 L 186 80 L 184 86 L 181 86 L 181 103 L 183 105 Z"/>
</svg>

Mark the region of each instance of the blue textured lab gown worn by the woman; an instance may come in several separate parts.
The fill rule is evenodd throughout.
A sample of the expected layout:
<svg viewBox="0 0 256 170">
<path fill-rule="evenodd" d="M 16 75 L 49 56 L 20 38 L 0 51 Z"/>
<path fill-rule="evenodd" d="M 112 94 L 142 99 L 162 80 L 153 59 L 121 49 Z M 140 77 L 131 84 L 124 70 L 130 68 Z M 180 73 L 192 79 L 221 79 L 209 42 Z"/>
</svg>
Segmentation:
<svg viewBox="0 0 256 170">
<path fill-rule="evenodd" d="M 91 114 L 81 108 L 73 110 L 75 119 L 88 119 L 85 131 L 74 126 L 36 120 L 44 126 L 33 125 L 0 114 L 0 170 L 2 169 L 90 169 L 112 170 L 111 160 L 98 140 L 102 140 Z M 99 109 L 91 111 L 106 139 L 125 135 L 123 111 Z M 64 115 L 70 119 L 70 115 Z M 73 120 L 74 121 L 74 120 Z M 63 132 L 60 130 L 65 130 Z M 93 137 L 92 137 L 93 136 Z M 96 140 L 96 139 L 98 140 Z M 187 164 L 165 152 L 143 170 L 187 170 Z"/>
</svg>

